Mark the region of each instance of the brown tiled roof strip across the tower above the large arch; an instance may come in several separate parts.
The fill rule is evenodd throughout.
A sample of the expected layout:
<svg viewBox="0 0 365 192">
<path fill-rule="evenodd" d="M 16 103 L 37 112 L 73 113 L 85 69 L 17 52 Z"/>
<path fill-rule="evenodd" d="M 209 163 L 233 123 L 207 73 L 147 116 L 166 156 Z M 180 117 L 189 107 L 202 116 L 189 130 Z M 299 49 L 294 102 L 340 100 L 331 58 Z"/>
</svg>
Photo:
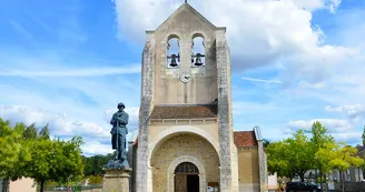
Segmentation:
<svg viewBox="0 0 365 192">
<path fill-rule="evenodd" d="M 217 118 L 217 104 L 155 105 L 150 119 Z"/>
</svg>

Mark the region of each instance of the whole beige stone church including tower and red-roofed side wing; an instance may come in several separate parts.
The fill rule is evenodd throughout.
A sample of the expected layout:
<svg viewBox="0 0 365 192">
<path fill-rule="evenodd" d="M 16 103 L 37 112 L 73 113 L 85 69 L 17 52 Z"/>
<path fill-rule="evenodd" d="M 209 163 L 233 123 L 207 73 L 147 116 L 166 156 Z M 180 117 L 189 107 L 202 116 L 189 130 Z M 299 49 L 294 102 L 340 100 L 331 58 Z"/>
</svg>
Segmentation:
<svg viewBox="0 0 365 192">
<path fill-rule="evenodd" d="M 185 2 L 146 33 L 139 133 L 129 146 L 132 191 L 267 191 L 259 128 L 233 130 L 226 28 Z M 170 50 L 171 39 L 178 49 Z"/>
</svg>

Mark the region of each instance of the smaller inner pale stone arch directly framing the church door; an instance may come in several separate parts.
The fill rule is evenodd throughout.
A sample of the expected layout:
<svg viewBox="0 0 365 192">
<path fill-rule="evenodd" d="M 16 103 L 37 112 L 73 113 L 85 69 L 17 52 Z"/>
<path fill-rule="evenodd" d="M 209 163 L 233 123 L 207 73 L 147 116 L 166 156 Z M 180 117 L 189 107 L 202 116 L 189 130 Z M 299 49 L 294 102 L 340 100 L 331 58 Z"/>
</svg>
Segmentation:
<svg viewBox="0 0 365 192">
<path fill-rule="evenodd" d="M 198 159 L 190 156 L 190 155 L 178 156 L 168 166 L 168 171 L 167 171 L 168 192 L 174 192 L 175 168 L 184 162 L 190 162 L 198 168 L 198 170 L 199 170 L 199 189 L 200 189 L 199 191 L 204 192 L 207 189 L 206 170 L 205 170 L 203 163 Z"/>
</svg>

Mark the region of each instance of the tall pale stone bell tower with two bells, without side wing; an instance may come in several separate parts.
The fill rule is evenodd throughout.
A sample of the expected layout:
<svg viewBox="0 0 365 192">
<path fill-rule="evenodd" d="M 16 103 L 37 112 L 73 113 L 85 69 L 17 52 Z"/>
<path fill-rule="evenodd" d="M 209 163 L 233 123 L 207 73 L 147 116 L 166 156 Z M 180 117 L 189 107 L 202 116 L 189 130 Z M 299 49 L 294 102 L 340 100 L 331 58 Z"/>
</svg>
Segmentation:
<svg viewBox="0 0 365 192">
<path fill-rule="evenodd" d="M 217 173 L 211 174 L 217 174 L 219 191 L 238 191 L 226 28 L 215 27 L 185 1 L 155 31 L 146 33 L 135 168 L 137 192 L 160 188 L 155 186 L 155 180 L 164 168 L 154 164 L 154 153 L 166 140 L 182 133 L 210 142 L 218 162 Z M 203 166 L 208 164 L 204 158 L 191 154 L 190 159 L 201 161 Z M 209 181 L 204 182 L 207 185 Z M 171 182 L 167 183 L 166 189 L 170 189 Z"/>
</svg>

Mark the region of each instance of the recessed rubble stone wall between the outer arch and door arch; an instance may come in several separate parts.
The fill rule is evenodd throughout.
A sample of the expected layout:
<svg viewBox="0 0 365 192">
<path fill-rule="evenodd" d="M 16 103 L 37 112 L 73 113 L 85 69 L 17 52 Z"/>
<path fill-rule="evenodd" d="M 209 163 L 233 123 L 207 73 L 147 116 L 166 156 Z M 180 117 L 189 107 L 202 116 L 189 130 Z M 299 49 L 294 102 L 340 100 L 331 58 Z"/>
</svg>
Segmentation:
<svg viewBox="0 0 365 192">
<path fill-rule="evenodd" d="M 206 171 L 206 182 L 219 182 L 219 158 L 213 145 L 195 134 L 180 134 L 165 141 L 151 156 L 154 191 L 167 191 L 171 162 L 184 155 L 198 159 Z"/>
</svg>

